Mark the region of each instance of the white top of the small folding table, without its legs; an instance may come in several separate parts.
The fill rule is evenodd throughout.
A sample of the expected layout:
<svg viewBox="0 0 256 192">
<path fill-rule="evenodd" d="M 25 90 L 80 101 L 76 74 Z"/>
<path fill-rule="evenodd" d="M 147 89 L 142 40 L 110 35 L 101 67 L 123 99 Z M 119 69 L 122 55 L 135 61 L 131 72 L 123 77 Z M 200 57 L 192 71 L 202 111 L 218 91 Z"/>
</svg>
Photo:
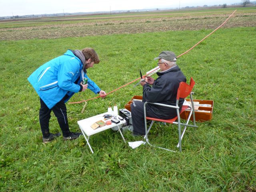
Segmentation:
<svg viewBox="0 0 256 192">
<path fill-rule="evenodd" d="M 120 117 L 118 115 L 117 119 L 120 120 L 120 122 L 118 124 L 115 124 L 115 123 L 112 122 L 111 125 L 105 125 L 103 127 L 96 128 L 95 130 L 93 128 L 91 128 L 91 125 L 94 124 L 95 122 L 99 121 L 99 120 L 103 120 L 104 122 L 107 121 L 107 120 L 104 120 L 104 117 L 103 117 L 104 114 L 108 114 L 108 112 L 102 113 L 102 114 L 98 114 L 96 116 L 92 116 L 92 117 L 89 117 L 87 119 L 79 120 L 77 123 L 78 123 L 79 127 L 84 131 L 84 133 L 87 136 L 90 136 L 90 135 L 102 132 L 104 130 L 107 130 L 109 128 L 112 128 L 114 126 L 118 126 L 118 125 L 122 125 L 122 124 L 126 123 L 125 120 L 121 121 L 120 119 L 118 119 L 118 117 Z M 120 117 L 120 118 L 122 118 L 122 117 Z M 108 120 L 110 120 L 110 119 L 108 119 Z"/>
</svg>

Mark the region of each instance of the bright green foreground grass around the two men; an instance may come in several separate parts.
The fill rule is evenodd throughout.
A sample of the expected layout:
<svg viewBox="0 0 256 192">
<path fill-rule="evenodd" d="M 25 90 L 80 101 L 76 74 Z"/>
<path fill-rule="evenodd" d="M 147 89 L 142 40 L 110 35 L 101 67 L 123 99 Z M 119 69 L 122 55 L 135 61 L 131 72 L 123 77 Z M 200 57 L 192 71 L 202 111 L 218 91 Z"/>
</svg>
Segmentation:
<svg viewBox="0 0 256 192">
<path fill-rule="evenodd" d="M 256 190 L 256 28 L 220 29 L 178 59 L 187 79 L 196 82 L 194 98 L 214 100 L 213 120 L 188 128 L 182 153 L 148 145 L 132 149 L 117 132 L 42 144 L 39 98 L 27 77 L 67 49 L 94 48 L 101 62 L 88 70 L 106 92 L 156 66 L 162 50 L 185 52 L 210 30 L 0 41 L 0 191 L 255 191 Z M 153 77 L 156 77 L 153 76 Z M 123 108 L 142 88 L 126 86 L 83 104 L 67 104 L 70 129 L 77 121 Z M 92 98 L 89 90 L 70 102 Z M 52 132 L 60 131 L 54 115 Z M 127 141 L 133 138 L 124 134 Z M 176 126 L 155 124 L 153 143 L 174 147 Z"/>
</svg>

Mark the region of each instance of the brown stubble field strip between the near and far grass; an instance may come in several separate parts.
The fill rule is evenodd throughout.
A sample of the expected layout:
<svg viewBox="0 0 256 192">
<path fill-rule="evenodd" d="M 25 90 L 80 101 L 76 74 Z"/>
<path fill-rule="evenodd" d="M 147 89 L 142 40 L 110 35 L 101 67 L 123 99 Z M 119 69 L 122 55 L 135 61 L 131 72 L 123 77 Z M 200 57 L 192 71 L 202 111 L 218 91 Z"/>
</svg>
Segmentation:
<svg viewBox="0 0 256 192">
<path fill-rule="evenodd" d="M 169 30 L 215 29 L 228 18 L 227 14 L 212 16 L 162 17 L 98 22 L 80 22 L 33 27 L 0 29 L 0 40 L 62 38 L 110 34 L 132 34 Z M 256 13 L 235 14 L 223 28 L 256 26 Z"/>
</svg>

